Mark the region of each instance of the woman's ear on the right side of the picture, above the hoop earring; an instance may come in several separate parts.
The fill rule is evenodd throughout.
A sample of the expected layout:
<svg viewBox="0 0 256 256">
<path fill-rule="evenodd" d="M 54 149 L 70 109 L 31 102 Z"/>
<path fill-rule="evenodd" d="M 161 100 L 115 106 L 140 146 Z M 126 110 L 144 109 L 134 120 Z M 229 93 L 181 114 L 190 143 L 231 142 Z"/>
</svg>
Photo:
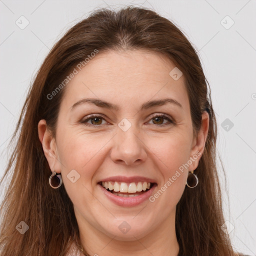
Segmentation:
<svg viewBox="0 0 256 256">
<path fill-rule="evenodd" d="M 197 168 L 199 160 L 202 156 L 205 141 L 208 135 L 209 128 L 209 114 L 204 111 L 202 113 L 202 123 L 201 128 L 197 133 L 197 137 L 193 138 L 191 151 L 190 151 L 190 159 L 192 160 L 192 164 L 189 166 L 189 170 L 194 170 Z"/>
</svg>

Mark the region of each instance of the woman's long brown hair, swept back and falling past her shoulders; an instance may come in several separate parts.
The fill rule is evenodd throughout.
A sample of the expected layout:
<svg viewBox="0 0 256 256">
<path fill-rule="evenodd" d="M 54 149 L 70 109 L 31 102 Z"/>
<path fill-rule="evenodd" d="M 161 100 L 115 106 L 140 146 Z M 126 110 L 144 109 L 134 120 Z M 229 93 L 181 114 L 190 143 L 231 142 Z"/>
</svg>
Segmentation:
<svg viewBox="0 0 256 256">
<path fill-rule="evenodd" d="M 1 183 L 4 177 L 9 181 L 0 208 L 1 256 L 64 256 L 72 242 L 81 246 L 73 205 L 64 186 L 49 186 L 51 170 L 37 124 L 45 119 L 55 136 L 65 86 L 54 99 L 49 94 L 95 49 L 148 49 L 166 55 L 183 72 L 194 134 L 200 129 L 203 111 L 209 114 L 209 130 L 194 171 L 199 183 L 193 189 L 185 187 L 176 205 L 179 255 L 237 255 L 221 228 L 224 218 L 216 168 L 216 120 L 197 53 L 177 25 L 150 9 L 127 6 L 118 11 L 93 11 L 56 42 L 39 68 L 12 136 L 15 148 L 1 179 Z M 24 234 L 15 228 L 20 221 L 29 227 Z"/>
</svg>

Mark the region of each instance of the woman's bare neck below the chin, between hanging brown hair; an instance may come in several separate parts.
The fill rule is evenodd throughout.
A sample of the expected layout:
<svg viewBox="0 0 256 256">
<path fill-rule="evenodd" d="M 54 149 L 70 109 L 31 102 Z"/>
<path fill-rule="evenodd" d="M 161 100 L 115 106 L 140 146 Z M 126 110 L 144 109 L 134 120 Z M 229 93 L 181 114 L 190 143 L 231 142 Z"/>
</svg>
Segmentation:
<svg viewBox="0 0 256 256">
<path fill-rule="evenodd" d="M 157 228 L 152 229 L 145 236 L 136 237 L 133 235 L 133 238 L 129 240 L 119 240 L 117 236 L 110 237 L 85 220 L 78 223 L 78 227 L 83 250 L 91 256 L 178 255 L 179 245 L 175 233 L 175 210 Z M 83 253 L 86 255 L 85 252 Z"/>
</svg>

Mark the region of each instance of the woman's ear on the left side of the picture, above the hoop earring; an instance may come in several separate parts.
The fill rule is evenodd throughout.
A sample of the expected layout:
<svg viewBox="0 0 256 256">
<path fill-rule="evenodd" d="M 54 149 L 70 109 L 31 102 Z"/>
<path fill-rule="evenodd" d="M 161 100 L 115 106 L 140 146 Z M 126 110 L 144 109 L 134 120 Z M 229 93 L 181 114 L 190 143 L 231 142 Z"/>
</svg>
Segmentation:
<svg viewBox="0 0 256 256">
<path fill-rule="evenodd" d="M 47 128 L 46 121 L 44 119 L 41 119 L 38 122 L 37 128 L 39 140 L 42 144 L 42 149 L 48 161 L 51 171 L 55 170 L 57 173 L 60 173 L 61 168 L 60 162 L 57 160 L 58 155 L 56 150 L 56 142 L 53 136 L 51 135 L 51 132 Z"/>
</svg>

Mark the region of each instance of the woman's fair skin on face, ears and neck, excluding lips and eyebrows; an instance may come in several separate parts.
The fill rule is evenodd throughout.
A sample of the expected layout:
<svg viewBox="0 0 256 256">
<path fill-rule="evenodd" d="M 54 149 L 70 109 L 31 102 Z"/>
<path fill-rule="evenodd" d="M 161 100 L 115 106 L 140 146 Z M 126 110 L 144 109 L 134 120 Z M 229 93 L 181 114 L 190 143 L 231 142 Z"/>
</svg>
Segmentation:
<svg viewBox="0 0 256 256">
<path fill-rule="evenodd" d="M 90 255 L 178 253 L 176 204 L 184 191 L 188 170 L 197 167 L 200 156 L 154 202 L 118 206 L 97 185 L 113 175 L 141 175 L 155 179 L 157 191 L 189 157 L 203 152 L 208 114 L 202 114 L 201 129 L 197 138 L 193 137 L 184 76 L 174 80 L 169 75 L 174 67 L 165 56 L 146 50 L 99 52 L 66 85 L 56 137 L 51 136 L 45 120 L 38 123 L 49 167 L 61 173 L 83 248 Z M 120 109 L 84 103 L 70 110 L 75 102 L 88 97 L 118 104 Z M 167 103 L 139 111 L 144 102 L 166 97 L 177 100 L 182 107 Z M 87 115 L 98 113 L 105 117 L 87 120 L 90 126 L 81 123 Z M 165 117 L 152 118 L 154 113 L 166 114 L 175 123 Z M 127 131 L 118 127 L 123 118 L 131 123 Z M 74 183 L 67 178 L 72 169 L 80 175 Z M 122 221 L 131 227 L 127 233 L 118 228 Z"/>
</svg>

